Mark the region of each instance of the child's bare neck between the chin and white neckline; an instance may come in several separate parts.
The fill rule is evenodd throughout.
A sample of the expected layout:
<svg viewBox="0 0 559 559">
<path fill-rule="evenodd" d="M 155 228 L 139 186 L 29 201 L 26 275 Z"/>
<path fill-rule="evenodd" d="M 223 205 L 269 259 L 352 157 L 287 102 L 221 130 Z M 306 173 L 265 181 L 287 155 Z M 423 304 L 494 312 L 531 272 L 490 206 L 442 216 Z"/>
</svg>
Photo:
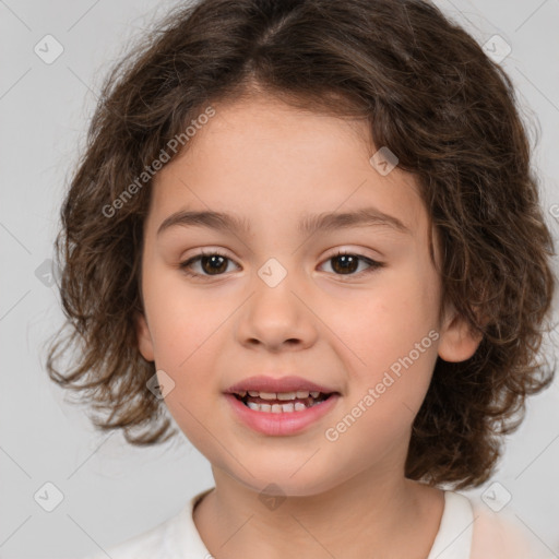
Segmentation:
<svg viewBox="0 0 559 559">
<path fill-rule="evenodd" d="M 362 472 L 333 488 L 274 501 L 213 468 L 215 489 L 194 523 L 217 558 L 425 559 L 439 528 L 443 492 L 394 472 Z"/>
</svg>

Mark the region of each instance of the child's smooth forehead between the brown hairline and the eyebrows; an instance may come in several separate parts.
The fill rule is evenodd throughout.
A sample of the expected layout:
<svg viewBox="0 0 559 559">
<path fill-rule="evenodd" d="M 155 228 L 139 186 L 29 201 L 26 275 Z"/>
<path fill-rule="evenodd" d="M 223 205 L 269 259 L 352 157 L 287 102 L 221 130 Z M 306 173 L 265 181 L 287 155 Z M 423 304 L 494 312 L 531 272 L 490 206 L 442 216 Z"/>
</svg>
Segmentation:
<svg viewBox="0 0 559 559">
<path fill-rule="evenodd" d="M 408 229 L 425 221 L 413 176 L 397 167 L 382 176 L 371 165 L 377 147 L 365 120 L 267 97 L 213 107 L 188 150 L 154 178 L 157 228 L 181 210 L 229 214 L 245 228 L 290 221 L 308 230 L 319 215 L 371 207 Z"/>
</svg>

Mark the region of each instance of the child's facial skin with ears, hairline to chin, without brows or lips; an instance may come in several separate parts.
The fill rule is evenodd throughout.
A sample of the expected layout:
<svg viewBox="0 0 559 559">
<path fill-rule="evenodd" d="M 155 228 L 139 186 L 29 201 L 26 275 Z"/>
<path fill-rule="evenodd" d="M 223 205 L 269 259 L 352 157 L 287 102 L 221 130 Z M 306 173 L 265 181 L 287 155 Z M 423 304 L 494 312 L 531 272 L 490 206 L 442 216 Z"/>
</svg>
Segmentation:
<svg viewBox="0 0 559 559">
<path fill-rule="evenodd" d="M 412 176 L 372 167 L 364 122 L 265 98 L 214 108 L 189 151 L 156 176 L 145 223 L 139 341 L 175 382 L 168 408 L 214 473 L 257 491 L 275 483 L 312 495 L 357 474 L 402 477 L 437 355 L 463 360 L 478 344 L 451 314 L 437 320 L 441 284 Z M 305 216 L 366 207 L 407 230 L 298 230 Z M 157 234 L 185 210 L 238 216 L 251 233 L 171 225 Z M 179 265 L 201 249 L 229 260 L 194 261 L 202 276 L 189 277 Z M 361 259 L 333 259 L 337 250 Z M 253 376 L 302 377 L 340 397 L 302 429 L 264 433 L 225 395 Z M 308 412 L 285 418 L 297 413 Z"/>
</svg>

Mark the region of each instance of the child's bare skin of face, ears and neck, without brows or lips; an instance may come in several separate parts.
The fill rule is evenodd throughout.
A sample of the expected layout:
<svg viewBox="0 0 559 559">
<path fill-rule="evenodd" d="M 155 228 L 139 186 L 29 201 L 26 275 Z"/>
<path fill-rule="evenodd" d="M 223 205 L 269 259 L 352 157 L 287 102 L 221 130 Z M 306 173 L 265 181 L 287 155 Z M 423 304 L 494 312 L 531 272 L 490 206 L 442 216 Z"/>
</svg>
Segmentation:
<svg viewBox="0 0 559 559">
<path fill-rule="evenodd" d="M 428 214 L 413 176 L 381 176 L 364 121 L 301 111 L 264 95 L 214 104 L 189 150 L 155 177 L 144 227 L 139 347 L 175 382 L 165 402 L 211 462 L 215 489 L 194 510 L 209 551 L 228 559 L 427 557 L 443 492 L 404 476 L 414 417 L 437 356 L 469 358 L 479 344 L 452 309 L 439 322 L 441 284 L 429 257 Z M 386 225 L 301 236 L 306 214 L 370 206 Z M 179 210 L 250 222 L 252 234 L 174 226 Z M 216 275 L 200 261 L 218 249 Z M 365 261 L 341 272 L 336 249 Z M 275 258 L 287 271 L 271 288 L 258 275 Z M 436 253 L 436 258 L 438 254 Z M 337 265 L 336 265 L 337 262 Z M 215 264 L 214 264 L 215 266 Z M 352 275 L 353 274 L 353 275 Z M 439 338 L 335 442 L 324 437 L 428 332 Z M 271 372 L 272 371 L 272 372 Z M 335 388 L 335 408 L 305 431 L 266 436 L 234 416 L 223 392 L 252 374 L 298 374 Z M 286 499 L 259 499 L 269 484 Z M 334 530 L 333 530 L 334 528 Z"/>
</svg>

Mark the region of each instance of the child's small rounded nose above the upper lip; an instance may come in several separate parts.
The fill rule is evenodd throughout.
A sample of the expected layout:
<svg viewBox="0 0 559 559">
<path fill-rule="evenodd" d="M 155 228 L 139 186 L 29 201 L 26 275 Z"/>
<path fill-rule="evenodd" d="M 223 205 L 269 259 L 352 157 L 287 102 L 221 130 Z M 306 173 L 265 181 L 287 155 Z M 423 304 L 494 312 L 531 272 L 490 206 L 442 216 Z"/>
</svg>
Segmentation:
<svg viewBox="0 0 559 559">
<path fill-rule="evenodd" d="M 312 346 L 318 336 L 318 318 L 304 292 L 287 274 L 272 287 L 257 277 L 253 292 L 240 309 L 238 342 L 269 352 L 301 350 Z"/>
</svg>

